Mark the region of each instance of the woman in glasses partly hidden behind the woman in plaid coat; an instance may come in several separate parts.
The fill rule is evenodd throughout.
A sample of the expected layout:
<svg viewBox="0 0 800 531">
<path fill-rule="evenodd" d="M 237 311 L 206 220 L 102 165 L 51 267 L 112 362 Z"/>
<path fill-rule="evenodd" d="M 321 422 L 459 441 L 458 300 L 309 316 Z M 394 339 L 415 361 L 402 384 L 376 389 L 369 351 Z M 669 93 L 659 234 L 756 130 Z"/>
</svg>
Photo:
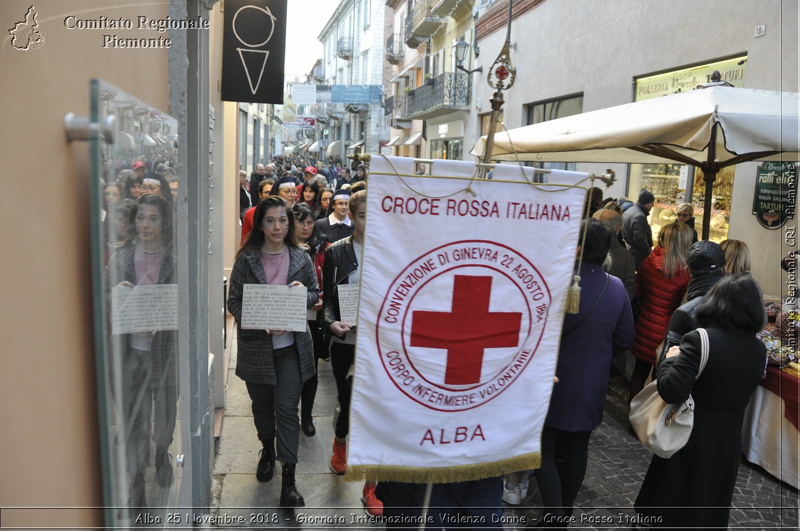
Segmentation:
<svg viewBox="0 0 800 531">
<path fill-rule="evenodd" d="M 317 273 L 318 285 L 322 285 L 322 265 L 325 262 L 325 250 L 328 247 L 322 235 L 319 234 L 314 220 L 314 212 L 311 207 L 306 203 L 297 203 L 292 207 L 294 210 L 294 226 L 297 234 L 298 242 L 308 246 L 308 255 L 311 262 L 314 262 L 314 270 Z M 311 307 L 314 312 L 314 318 L 309 318 L 308 327 L 311 330 L 311 339 L 314 340 L 314 366 L 316 367 L 320 359 L 328 359 L 328 347 L 322 338 L 321 315 L 318 314 L 322 309 L 322 291 L 319 293 L 319 301 Z M 314 397 L 317 395 L 318 378 L 317 375 L 310 377 L 306 383 L 302 385 L 302 398 L 300 407 L 300 427 L 302 432 L 306 433 L 309 437 L 317 433 L 314 427 L 314 417 L 312 412 L 314 410 Z"/>
</svg>

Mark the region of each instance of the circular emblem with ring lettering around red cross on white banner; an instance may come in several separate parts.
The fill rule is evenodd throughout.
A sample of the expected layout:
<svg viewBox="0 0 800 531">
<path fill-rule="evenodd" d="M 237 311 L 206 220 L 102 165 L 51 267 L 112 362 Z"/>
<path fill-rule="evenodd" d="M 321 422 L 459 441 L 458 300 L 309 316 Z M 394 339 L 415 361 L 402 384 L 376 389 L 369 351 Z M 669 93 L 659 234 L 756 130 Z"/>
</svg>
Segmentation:
<svg viewBox="0 0 800 531">
<path fill-rule="evenodd" d="M 394 278 L 378 310 L 386 376 L 426 408 L 477 408 L 530 364 L 550 301 L 536 266 L 508 246 L 462 240 L 431 249 Z"/>
</svg>

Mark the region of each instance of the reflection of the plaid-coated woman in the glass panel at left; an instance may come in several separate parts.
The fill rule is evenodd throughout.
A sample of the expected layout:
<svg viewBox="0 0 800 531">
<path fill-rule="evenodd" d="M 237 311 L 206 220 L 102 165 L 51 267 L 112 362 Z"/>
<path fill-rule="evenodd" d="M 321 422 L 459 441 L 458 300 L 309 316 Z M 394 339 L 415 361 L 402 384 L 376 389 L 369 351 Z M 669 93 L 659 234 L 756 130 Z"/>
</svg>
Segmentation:
<svg viewBox="0 0 800 531">
<path fill-rule="evenodd" d="M 166 199 L 157 194 L 142 195 L 130 210 L 129 219 L 125 245 L 111 256 L 107 268 L 108 293 L 112 285 L 175 284 L 172 208 Z M 110 353 L 121 366 L 122 393 L 118 399 L 120 424 L 128 437 L 129 505 L 146 507 L 145 471 L 150 466 L 151 438 L 158 485 L 166 488 L 173 481 L 168 451 L 178 411 L 178 332 L 165 329 L 114 334 Z"/>
</svg>

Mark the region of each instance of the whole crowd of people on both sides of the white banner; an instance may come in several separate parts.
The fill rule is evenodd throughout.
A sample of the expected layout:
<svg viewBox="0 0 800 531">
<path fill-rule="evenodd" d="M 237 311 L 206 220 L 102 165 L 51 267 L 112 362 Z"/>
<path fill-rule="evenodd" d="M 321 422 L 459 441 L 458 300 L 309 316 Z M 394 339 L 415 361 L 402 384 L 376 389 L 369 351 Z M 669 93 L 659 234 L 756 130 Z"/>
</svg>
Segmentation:
<svg viewBox="0 0 800 531">
<path fill-rule="evenodd" d="M 238 329 L 237 374 L 247 382 L 263 445 L 257 477 L 269 481 L 276 460 L 282 461 L 284 506 L 303 505 L 293 471 L 298 433 L 316 433 L 311 412 L 318 360 L 330 360 L 337 386 L 338 403 L 328 405 L 338 411 L 330 468 L 337 474 L 347 469 L 357 331 L 341 321 L 337 300 L 339 285 L 358 284 L 360 278 L 366 168 L 356 165 L 354 175 L 349 173 L 333 161 L 298 158 L 258 165 L 249 178 L 240 171 L 242 249 L 231 276 L 231 312 L 239 321 L 245 283 L 299 281 L 308 289 L 313 316 L 306 332 L 288 333 L 288 339 L 276 330 Z M 587 194 L 579 240 L 583 244 L 578 247 L 582 261 L 575 263 L 575 273 L 582 278 L 580 309 L 564 320 L 556 383 L 542 431 L 541 467 L 502 478 L 434 485 L 430 499 L 440 513 L 449 508 L 482 515 L 486 527 L 502 527 L 488 523 L 498 520 L 488 515 L 502 514 L 503 501 L 519 505 L 534 477 L 544 505 L 540 525 L 567 527 L 574 521 L 591 434 L 602 421 L 610 376 L 624 373 L 626 357 L 633 357 L 631 398 L 652 373 L 658 377 L 659 393 L 670 403 L 694 393 L 697 419 L 685 449 L 670 460 L 653 457 L 636 511 L 654 527 L 702 522 L 702 527 L 724 529 L 738 470 L 744 408 L 766 358 L 755 337 L 766 314 L 761 291 L 749 274 L 747 247 L 736 240 L 722 246 L 698 242 L 688 204 L 676 206 L 678 218 L 654 241 L 647 222 L 653 194 L 642 190 L 638 201 L 631 202 L 603 200 L 598 192 Z M 709 329 L 711 361 L 694 381 L 698 326 Z M 727 363 L 731 355 L 741 362 Z M 292 357 L 292 364 L 282 359 L 286 356 Z M 260 366 L 264 364 L 268 366 Z M 309 364 L 312 370 L 304 369 Z M 250 391 L 258 385 L 270 390 Z M 735 387 L 735 397 L 722 393 L 729 386 Z M 722 446 L 724 452 L 719 451 Z M 362 502 L 373 516 L 408 515 L 421 503 L 423 492 L 424 485 L 394 482 L 382 482 L 376 489 L 375 481 L 366 478 Z"/>
</svg>

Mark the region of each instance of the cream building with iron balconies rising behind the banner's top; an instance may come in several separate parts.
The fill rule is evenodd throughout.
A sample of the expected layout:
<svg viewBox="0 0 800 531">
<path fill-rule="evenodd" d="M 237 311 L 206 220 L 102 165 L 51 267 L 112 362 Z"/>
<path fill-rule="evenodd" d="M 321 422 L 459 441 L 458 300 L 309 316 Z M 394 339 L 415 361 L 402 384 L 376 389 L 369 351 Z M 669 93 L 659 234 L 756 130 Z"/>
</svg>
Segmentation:
<svg viewBox="0 0 800 531">
<path fill-rule="evenodd" d="M 394 65 L 386 101 L 393 153 L 461 160 L 475 141 L 473 85 L 478 77 L 456 67 L 454 45 L 474 42 L 474 1 L 386 4 L 398 28 L 386 41 L 386 60 Z M 470 46 L 462 65 L 466 70 L 478 53 Z"/>
</svg>

